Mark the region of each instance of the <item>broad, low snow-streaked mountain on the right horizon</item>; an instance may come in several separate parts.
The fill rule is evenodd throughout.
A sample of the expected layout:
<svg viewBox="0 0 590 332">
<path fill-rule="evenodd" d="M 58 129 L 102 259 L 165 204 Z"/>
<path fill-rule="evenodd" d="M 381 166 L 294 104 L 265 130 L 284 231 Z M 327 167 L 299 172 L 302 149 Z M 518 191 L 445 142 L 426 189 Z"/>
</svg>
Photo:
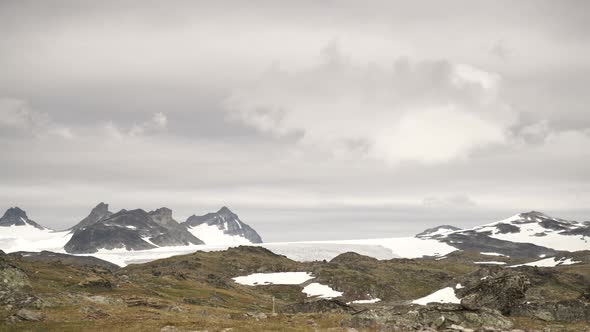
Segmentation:
<svg viewBox="0 0 590 332">
<path fill-rule="evenodd" d="M 547 256 L 556 251 L 589 250 L 590 224 L 530 211 L 470 229 L 439 226 L 416 237 L 435 239 L 461 250 L 512 257 Z"/>
</svg>

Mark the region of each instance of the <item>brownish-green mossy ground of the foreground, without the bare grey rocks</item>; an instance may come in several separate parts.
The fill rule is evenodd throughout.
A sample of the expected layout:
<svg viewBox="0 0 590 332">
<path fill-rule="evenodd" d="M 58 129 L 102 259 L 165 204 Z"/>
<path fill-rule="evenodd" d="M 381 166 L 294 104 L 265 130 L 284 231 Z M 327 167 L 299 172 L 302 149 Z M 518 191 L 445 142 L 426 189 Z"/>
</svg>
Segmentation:
<svg viewBox="0 0 590 332">
<path fill-rule="evenodd" d="M 477 253 L 457 252 L 446 259 L 393 259 L 378 261 L 356 254 L 332 262 L 299 263 L 263 248 L 241 247 L 222 252 L 197 252 L 116 271 L 96 266 L 27 261 L 8 257 L 30 280 L 31 294 L 43 300 L 42 322 L 9 323 L 16 308 L 0 307 L 0 331 L 338 331 L 347 316 L 336 313 L 281 313 L 281 307 L 302 301 L 300 286 L 249 287 L 231 278 L 255 272 L 307 271 L 319 282 L 343 291 L 345 301 L 366 294 L 387 303 L 422 297 L 458 278 L 477 271 L 474 261 L 491 260 Z M 586 256 L 583 256 L 586 257 Z M 509 264 L 518 260 L 500 258 Z M 585 259 L 585 258 L 584 258 Z M 497 260 L 497 258 L 494 258 Z M 523 268 L 532 282 L 532 297 L 571 299 L 590 285 L 590 264 L 551 269 Z M 88 278 L 103 278 L 112 287 L 81 286 Z M 95 296 L 98 296 L 96 298 Z M 278 315 L 271 315 L 275 297 Z M 368 305 L 370 306 L 370 305 Z M 361 310 L 366 306 L 358 306 Z M 257 320 L 248 312 L 265 313 Z M 515 319 L 516 327 L 542 329 L 549 323 Z M 568 331 L 583 331 L 582 323 L 551 323 Z M 576 330 L 578 328 L 578 330 Z"/>
</svg>

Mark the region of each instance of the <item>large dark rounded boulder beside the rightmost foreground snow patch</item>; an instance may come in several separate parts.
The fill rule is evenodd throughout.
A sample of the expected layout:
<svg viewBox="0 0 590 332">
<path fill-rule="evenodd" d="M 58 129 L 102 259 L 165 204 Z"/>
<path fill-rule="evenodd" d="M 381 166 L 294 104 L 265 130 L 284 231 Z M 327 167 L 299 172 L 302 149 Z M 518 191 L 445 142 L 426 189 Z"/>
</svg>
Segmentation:
<svg viewBox="0 0 590 332">
<path fill-rule="evenodd" d="M 512 308 L 524 303 L 529 285 L 524 274 L 502 270 L 457 293 L 462 298 L 461 305 L 467 309 L 492 308 L 509 314 Z"/>
</svg>

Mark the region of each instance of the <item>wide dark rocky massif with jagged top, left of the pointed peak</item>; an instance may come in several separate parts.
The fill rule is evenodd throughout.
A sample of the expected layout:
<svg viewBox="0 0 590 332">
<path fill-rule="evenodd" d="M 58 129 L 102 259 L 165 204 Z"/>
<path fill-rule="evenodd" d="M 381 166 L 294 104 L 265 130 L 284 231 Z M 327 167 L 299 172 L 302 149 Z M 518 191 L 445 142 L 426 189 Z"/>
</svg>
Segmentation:
<svg viewBox="0 0 590 332">
<path fill-rule="evenodd" d="M 104 212 L 104 209 L 104 206 L 100 207 L 100 211 Z M 67 252 L 94 253 L 100 249 L 144 250 L 160 246 L 203 244 L 203 241 L 172 219 L 172 211 L 167 208 L 151 212 L 141 209 L 121 210 L 98 221 L 90 222 L 92 218 L 85 220 L 88 222 L 83 226 L 78 224 L 80 227 L 66 243 L 64 249 Z"/>
</svg>

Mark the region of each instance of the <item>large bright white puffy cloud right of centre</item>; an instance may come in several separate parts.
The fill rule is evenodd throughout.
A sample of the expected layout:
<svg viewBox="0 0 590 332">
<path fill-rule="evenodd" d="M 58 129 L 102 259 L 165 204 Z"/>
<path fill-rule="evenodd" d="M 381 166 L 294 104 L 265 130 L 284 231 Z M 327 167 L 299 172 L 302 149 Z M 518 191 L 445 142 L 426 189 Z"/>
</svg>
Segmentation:
<svg viewBox="0 0 590 332">
<path fill-rule="evenodd" d="M 226 104 L 261 132 L 332 153 L 440 163 L 507 142 L 519 114 L 500 88 L 500 75 L 467 64 L 358 64 L 331 44 L 318 64 L 294 72 L 275 66 Z"/>
</svg>

